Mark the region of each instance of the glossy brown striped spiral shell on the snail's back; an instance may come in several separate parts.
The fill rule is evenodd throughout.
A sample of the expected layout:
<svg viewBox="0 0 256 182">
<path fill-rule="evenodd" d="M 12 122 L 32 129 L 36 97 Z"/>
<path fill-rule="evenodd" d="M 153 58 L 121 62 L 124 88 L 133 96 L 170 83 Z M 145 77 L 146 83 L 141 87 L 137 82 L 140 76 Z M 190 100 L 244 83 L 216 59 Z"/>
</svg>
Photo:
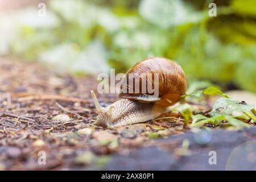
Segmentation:
<svg viewBox="0 0 256 182">
<path fill-rule="evenodd" d="M 129 77 L 130 73 L 133 74 L 133 77 Z M 158 98 L 151 97 L 153 94 L 148 93 L 148 89 L 146 89 L 146 93 L 142 92 L 142 80 L 146 78 L 146 84 L 152 84 L 151 87 L 154 88 L 156 85 L 155 76 L 159 84 Z M 125 77 L 119 97 L 148 102 L 157 101 L 159 106 L 175 104 L 187 90 L 187 79 L 183 69 L 174 61 L 163 57 L 151 57 L 140 61 L 129 69 Z M 129 84 L 131 82 L 133 84 Z M 135 84 L 139 84 L 139 88 L 135 88 Z M 124 90 L 126 91 L 124 92 Z"/>
</svg>

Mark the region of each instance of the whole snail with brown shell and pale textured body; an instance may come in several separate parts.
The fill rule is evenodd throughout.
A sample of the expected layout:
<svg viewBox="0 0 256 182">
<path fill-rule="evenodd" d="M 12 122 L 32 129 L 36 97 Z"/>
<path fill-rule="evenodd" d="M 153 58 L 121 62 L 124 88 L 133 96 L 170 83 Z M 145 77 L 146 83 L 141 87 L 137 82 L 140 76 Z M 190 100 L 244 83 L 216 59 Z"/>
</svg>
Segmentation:
<svg viewBox="0 0 256 182">
<path fill-rule="evenodd" d="M 134 77 L 129 77 L 131 74 L 135 75 L 135 80 Z M 154 96 L 148 90 L 142 92 L 141 75 L 146 78 L 147 85 L 158 86 L 158 96 Z M 117 127 L 150 121 L 166 113 L 169 106 L 179 102 L 187 89 L 183 69 L 174 61 L 163 57 L 151 57 L 138 62 L 127 71 L 125 78 L 122 81 L 122 91 L 119 93 L 122 99 L 108 107 L 101 107 L 93 90 L 91 91 L 98 114 L 96 125 Z M 127 84 L 127 81 L 133 84 Z M 139 84 L 139 90 L 135 89 L 135 83 Z M 127 90 L 133 92 L 127 93 Z"/>
</svg>

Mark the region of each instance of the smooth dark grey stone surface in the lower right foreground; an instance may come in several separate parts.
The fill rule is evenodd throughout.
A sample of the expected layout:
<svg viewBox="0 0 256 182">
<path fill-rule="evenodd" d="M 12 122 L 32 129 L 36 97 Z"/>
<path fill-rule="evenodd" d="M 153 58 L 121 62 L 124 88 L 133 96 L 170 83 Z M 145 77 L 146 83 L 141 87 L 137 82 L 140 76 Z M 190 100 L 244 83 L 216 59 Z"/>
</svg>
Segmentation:
<svg viewBox="0 0 256 182">
<path fill-rule="evenodd" d="M 160 139 L 159 146 L 139 148 L 127 156 L 114 155 L 107 170 L 255 170 L 256 129 L 241 131 L 213 131 L 207 144 L 199 144 L 195 133 L 188 132 L 176 137 Z M 205 137 L 205 136 L 202 136 Z M 189 140 L 191 155 L 177 156 L 175 150 L 163 148 L 175 140 L 181 147 L 184 139 Z M 216 152 L 216 164 L 209 152 Z"/>
</svg>

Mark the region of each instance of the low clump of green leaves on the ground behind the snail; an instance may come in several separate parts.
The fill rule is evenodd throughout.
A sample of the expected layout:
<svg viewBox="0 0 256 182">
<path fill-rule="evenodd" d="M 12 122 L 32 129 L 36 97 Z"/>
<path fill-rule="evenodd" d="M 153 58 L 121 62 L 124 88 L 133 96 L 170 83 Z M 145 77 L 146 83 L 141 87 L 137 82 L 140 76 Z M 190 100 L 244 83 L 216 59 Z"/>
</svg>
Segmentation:
<svg viewBox="0 0 256 182">
<path fill-rule="evenodd" d="M 254 105 L 247 105 L 244 101 L 240 102 L 233 100 L 232 98 L 229 98 L 227 94 L 214 87 L 186 94 L 184 100 L 189 101 L 189 98 L 187 97 L 201 97 L 203 95 L 216 95 L 222 97 L 214 103 L 210 112 L 206 112 L 207 114 L 204 113 L 205 115 L 193 115 L 199 113 L 199 111 L 189 104 L 180 105 L 174 108 L 174 111 L 179 111 L 181 113 L 187 123 L 189 119 L 192 118 L 191 128 L 201 127 L 208 123 L 208 125 L 210 124 L 213 127 L 226 126 L 228 124 L 237 129 L 241 129 L 243 127 L 250 127 L 250 125 L 247 124 L 248 121 L 251 123 L 256 122 Z"/>
</svg>

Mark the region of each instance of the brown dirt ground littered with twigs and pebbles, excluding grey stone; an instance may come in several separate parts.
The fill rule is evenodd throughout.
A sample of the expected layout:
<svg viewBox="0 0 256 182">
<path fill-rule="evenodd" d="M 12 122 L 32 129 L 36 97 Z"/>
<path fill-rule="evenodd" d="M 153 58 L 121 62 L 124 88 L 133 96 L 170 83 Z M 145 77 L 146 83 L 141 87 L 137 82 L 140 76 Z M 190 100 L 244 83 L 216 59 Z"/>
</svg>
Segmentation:
<svg viewBox="0 0 256 182">
<path fill-rule="evenodd" d="M 36 63 L 2 58 L 0 169 L 101 169 L 113 154 L 155 146 L 159 136 L 184 132 L 181 118 L 117 129 L 93 126 L 96 112 L 89 91 L 96 88 L 91 76 L 53 73 Z M 118 97 L 98 99 L 107 106 Z"/>
</svg>

